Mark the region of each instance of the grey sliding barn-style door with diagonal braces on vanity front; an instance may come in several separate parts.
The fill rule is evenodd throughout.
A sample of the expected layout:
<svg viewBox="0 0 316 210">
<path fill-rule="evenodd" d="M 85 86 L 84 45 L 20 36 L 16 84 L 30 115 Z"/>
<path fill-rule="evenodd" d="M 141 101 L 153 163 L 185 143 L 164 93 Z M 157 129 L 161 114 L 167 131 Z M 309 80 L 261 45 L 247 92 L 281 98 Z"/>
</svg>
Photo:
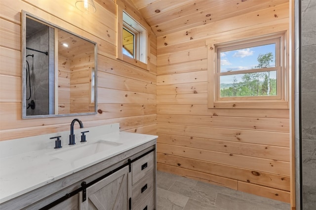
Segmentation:
<svg viewBox="0 0 316 210">
<path fill-rule="evenodd" d="M 79 192 L 80 210 L 128 210 L 129 166 Z M 83 199 L 85 198 L 85 200 Z"/>
</svg>

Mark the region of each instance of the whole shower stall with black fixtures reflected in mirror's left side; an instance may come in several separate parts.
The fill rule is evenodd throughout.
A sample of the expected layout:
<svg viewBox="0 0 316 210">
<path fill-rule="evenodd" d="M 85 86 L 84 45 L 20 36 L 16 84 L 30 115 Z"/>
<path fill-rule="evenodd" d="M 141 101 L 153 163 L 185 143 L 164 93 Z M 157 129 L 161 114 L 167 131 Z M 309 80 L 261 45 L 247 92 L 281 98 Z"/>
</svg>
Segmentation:
<svg viewBox="0 0 316 210">
<path fill-rule="evenodd" d="M 31 18 L 26 25 L 26 115 L 54 114 L 55 29 Z"/>
</svg>

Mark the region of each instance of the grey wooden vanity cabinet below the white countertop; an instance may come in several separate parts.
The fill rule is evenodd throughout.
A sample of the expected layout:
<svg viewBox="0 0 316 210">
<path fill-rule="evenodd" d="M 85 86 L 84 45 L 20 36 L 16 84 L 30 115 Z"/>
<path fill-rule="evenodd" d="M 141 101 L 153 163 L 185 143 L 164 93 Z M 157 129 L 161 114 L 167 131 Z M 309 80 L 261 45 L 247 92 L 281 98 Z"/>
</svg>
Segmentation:
<svg viewBox="0 0 316 210">
<path fill-rule="evenodd" d="M 0 209 L 155 210 L 156 169 L 152 140 L 2 203 Z"/>
</svg>

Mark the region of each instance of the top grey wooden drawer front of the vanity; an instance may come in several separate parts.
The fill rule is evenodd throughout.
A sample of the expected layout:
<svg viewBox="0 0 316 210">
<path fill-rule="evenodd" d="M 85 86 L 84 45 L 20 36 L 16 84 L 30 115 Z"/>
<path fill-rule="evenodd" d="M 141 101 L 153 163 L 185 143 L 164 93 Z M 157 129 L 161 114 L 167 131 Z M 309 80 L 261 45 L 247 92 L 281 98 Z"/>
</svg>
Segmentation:
<svg viewBox="0 0 316 210">
<path fill-rule="evenodd" d="M 132 164 L 132 184 L 134 185 L 142 177 L 154 171 L 154 151 Z"/>
</svg>

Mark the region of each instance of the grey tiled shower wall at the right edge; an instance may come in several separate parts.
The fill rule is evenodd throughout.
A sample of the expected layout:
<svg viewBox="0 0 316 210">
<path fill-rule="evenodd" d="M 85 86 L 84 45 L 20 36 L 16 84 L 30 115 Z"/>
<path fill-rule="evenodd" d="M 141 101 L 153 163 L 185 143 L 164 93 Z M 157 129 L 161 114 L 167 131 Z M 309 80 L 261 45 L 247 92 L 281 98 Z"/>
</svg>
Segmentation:
<svg viewBox="0 0 316 210">
<path fill-rule="evenodd" d="M 303 210 L 316 206 L 316 0 L 301 0 L 301 170 Z M 298 69 L 297 69 L 298 70 Z M 298 80 L 296 80 L 298 82 Z M 297 83 L 296 82 L 296 83 Z M 299 95 L 296 93 L 296 97 Z M 296 115 L 299 116 L 299 115 Z M 296 123 L 298 117 L 296 117 Z M 297 134 L 296 134 L 297 136 Z M 299 209 L 299 208 L 297 208 Z"/>
</svg>

